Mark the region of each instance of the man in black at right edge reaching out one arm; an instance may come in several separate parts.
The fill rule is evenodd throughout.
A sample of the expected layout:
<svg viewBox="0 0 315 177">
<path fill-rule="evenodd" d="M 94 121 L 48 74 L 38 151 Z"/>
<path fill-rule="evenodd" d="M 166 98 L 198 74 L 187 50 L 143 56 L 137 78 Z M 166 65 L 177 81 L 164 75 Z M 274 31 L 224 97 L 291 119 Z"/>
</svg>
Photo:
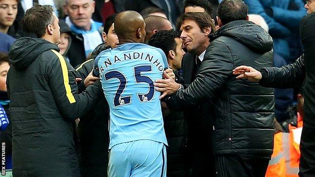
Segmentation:
<svg viewBox="0 0 315 177">
<path fill-rule="evenodd" d="M 312 6 L 308 2 L 305 7 Z M 311 9 L 311 8 L 309 8 Z M 315 10 L 315 3 L 313 3 Z M 308 11 L 309 13 L 309 11 Z M 314 176 L 315 175 L 315 158 L 314 158 L 314 136 L 315 123 L 313 117 L 315 115 L 314 107 L 314 77 L 313 77 L 313 49 L 314 38 L 313 30 L 315 28 L 315 14 L 309 14 L 304 17 L 300 23 L 301 39 L 304 47 L 304 54 L 299 57 L 293 64 L 281 68 L 263 68 L 259 71 L 252 67 L 240 66 L 237 67 L 233 74 L 239 75 L 236 78 L 247 78 L 252 82 L 259 82 L 264 87 L 274 88 L 293 88 L 302 86 L 304 94 L 304 117 L 303 131 L 300 142 L 300 164 L 299 176 Z"/>
</svg>

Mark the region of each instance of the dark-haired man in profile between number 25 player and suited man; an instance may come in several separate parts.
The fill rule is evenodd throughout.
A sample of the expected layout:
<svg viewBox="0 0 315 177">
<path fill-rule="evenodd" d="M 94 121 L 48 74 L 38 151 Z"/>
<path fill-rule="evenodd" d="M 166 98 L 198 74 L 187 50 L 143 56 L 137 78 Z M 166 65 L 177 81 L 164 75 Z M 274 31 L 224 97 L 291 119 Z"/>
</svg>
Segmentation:
<svg viewBox="0 0 315 177">
<path fill-rule="evenodd" d="M 168 64 L 180 82 L 177 71 L 182 68 L 182 58 L 185 54 L 182 39 L 174 30 L 162 30 L 152 35 L 148 44 L 161 48 L 167 56 Z M 162 103 L 162 105 L 164 105 Z M 163 108 L 163 120 L 166 138 L 169 144 L 167 149 L 167 176 L 187 176 L 189 171 L 187 158 L 187 122 L 184 112 Z"/>
</svg>

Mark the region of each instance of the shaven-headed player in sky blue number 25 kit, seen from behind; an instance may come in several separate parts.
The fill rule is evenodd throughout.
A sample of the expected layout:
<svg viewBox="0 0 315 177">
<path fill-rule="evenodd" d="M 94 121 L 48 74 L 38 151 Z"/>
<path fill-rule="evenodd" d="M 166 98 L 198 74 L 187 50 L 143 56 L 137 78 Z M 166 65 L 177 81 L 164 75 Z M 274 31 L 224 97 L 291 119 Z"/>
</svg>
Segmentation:
<svg viewBox="0 0 315 177">
<path fill-rule="evenodd" d="M 134 11 L 116 16 L 119 45 L 96 58 L 110 105 L 109 176 L 166 176 L 167 140 L 153 81 L 168 67 L 164 52 L 143 44 L 145 23 Z"/>
</svg>

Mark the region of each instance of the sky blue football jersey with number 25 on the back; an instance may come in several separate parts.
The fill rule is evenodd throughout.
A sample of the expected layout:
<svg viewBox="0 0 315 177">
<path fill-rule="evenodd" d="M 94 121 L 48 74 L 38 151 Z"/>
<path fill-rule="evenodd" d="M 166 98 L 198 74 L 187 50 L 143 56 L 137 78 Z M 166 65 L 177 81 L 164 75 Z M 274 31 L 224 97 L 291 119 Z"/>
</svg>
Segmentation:
<svg viewBox="0 0 315 177">
<path fill-rule="evenodd" d="M 160 103 L 153 82 L 168 67 L 160 48 L 125 43 L 102 51 L 95 59 L 110 106 L 110 146 L 135 140 L 167 145 Z"/>
</svg>

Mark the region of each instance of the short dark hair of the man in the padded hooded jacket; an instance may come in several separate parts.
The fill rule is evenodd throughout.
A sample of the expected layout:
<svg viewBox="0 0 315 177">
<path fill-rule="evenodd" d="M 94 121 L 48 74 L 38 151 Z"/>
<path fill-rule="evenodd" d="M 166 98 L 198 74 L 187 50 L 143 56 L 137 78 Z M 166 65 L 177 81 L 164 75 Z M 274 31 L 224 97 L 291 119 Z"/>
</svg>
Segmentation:
<svg viewBox="0 0 315 177">
<path fill-rule="evenodd" d="M 218 7 L 218 17 L 223 25 L 236 20 L 246 20 L 248 6 L 242 0 L 224 0 Z"/>
</svg>

